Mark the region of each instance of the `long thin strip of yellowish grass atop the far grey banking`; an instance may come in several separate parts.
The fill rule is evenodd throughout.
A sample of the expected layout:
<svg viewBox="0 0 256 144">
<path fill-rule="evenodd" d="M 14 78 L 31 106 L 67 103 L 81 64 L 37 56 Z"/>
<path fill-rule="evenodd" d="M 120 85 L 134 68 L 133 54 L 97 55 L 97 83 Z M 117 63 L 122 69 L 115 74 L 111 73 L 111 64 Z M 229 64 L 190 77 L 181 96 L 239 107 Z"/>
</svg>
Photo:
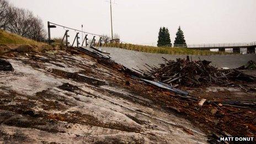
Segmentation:
<svg viewBox="0 0 256 144">
<path fill-rule="evenodd" d="M 110 44 L 108 44 L 110 46 Z M 230 55 L 228 52 L 214 52 L 209 50 L 193 50 L 180 47 L 155 47 L 155 46 L 143 46 L 132 44 L 112 44 L 112 47 L 119 47 L 121 49 L 150 52 L 157 54 L 170 54 L 170 55 Z"/>
</svg>

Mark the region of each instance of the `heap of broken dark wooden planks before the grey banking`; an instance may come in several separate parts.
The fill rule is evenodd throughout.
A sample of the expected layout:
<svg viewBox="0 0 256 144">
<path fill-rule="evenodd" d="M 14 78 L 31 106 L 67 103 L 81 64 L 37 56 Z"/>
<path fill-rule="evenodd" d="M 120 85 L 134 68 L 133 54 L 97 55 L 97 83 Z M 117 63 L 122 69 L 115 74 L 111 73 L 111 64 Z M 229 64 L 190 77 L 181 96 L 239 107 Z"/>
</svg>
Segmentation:
<svg viewBox="0 0 256 144">
<path fill-rule="evenodd" d="M 163 59 L 166 63 L 160 64 L 160 68 L 148 68 L 147 76 L 174 87 L 227 85 L 232 84 L 233 81 L 255 81 L 255 77 L 238 70 L 218 70 L 209 65 L 210 61 L 190 61 L 189 58 L 186 60 L 178 58 L 176 61 Z"/>
</svg>

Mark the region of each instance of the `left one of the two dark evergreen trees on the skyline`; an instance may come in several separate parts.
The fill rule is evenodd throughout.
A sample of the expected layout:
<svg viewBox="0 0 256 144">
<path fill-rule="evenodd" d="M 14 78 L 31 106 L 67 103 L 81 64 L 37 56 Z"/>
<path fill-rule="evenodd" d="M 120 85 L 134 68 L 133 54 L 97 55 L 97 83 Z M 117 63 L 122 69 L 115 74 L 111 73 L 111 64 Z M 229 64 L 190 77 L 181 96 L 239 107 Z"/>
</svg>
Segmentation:
<svg viewBox="0 0 256 144">
<path fill-rule="evenodd" d="M 170 45 L 170 33 L 168 28 L 161 27 L 158 33 L 157 46 Z"/>
</svg>

